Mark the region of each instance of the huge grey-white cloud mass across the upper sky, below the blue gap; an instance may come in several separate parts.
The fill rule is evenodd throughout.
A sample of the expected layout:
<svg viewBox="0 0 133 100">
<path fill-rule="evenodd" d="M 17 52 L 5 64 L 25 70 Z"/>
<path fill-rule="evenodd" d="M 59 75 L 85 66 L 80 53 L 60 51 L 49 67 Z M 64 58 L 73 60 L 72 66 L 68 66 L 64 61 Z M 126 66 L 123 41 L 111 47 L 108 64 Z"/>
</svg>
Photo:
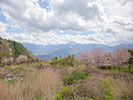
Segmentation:
<svg viewBox="0 0 133 100">
<path fill-rule="evenodd" d="M 50 0 L 50 12 L 41 8 L 37 0 L 2 0 L 0 3 L 8 21 L 30 31 L 87 31 L 94 26 L 92 22 L 102 16 L 99 3 L 88 0 L 64 0 L 61 3 Z"/>
</svg>

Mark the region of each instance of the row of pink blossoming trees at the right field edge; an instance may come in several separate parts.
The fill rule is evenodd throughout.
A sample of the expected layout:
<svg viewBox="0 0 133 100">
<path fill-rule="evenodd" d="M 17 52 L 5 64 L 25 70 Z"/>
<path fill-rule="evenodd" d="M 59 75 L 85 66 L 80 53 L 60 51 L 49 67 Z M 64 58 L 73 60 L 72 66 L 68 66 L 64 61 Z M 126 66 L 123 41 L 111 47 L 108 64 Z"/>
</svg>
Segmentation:
<svg viewBox="0 0 133 100">
<path fill-rule="evenodd" d="M 87 66 L 97 66 L 98 68 L 118 68 L 133 65 L 133 49 L 116 49 L 113 53 L 105 52 L 102 48 L 94 48 L 91 51 L 83 51 L 79 54 L 81 62 Z"/>
</svg>

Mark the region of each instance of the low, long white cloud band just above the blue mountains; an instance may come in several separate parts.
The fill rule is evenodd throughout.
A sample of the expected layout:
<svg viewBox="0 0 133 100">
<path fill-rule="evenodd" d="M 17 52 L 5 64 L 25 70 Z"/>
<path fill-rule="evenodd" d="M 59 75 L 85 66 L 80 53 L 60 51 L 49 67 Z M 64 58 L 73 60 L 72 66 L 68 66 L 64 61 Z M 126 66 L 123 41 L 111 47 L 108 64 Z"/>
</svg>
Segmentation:
<svg viewBox="0 0 133 100">
<path fill-rule="evenodd" d="M 28 34 L 25 33 L 8 33 L 7 30 L 7 24 L 0 23 L 0 27 L 2 27 L 3 30 L 0 31 L 1 36 L 6 39 L 15 40 L 18 42 L 23 43 L 35 43 L 35 44 L 42 44 L 42 45 L 48 45 L 48 44 L 66 44 L 68 42 L 76 42 L 80 44 L 86 44 L 86 43 L 104 43 L 99 37 L 101 35 L 71 35 L 71 34 L 55 34 L 55 32 L 39 32 L 39 33 L 31 33 Z"/>
</svg>

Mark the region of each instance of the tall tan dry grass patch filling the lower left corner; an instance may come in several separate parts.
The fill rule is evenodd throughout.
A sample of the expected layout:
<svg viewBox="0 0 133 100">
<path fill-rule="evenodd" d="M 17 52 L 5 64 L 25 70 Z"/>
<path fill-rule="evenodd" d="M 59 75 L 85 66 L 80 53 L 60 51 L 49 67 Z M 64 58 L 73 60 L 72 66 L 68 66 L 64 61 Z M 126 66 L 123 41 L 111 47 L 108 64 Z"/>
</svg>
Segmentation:
<svg viewBox="0 0 133 100">
<path fill-rule="evenodd" d="M 0 81 L 0 100 L 53 100 L 60 86 L 62 81 L 59 72 L 47 68 L 23 83 Z"/>
</svg>

